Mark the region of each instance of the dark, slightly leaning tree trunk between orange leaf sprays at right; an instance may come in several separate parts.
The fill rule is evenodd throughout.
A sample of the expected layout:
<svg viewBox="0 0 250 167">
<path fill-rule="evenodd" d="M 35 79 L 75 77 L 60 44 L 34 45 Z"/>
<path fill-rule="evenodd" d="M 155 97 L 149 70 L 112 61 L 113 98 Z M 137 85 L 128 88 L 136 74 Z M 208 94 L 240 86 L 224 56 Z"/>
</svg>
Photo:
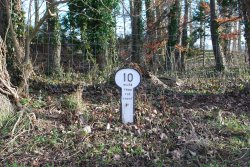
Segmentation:
<svg viewBox="0 0 250 167">
<path fill-rule="evenodd" d="M 215 0 L 210 0 L 210 11 L 211 11 L 211 38 L 212 38 L 212 45 L 213 45 L 213 52 L 215 57 L 215 64 L 217 71 L 223 71 L 225 69 L 225 60 L 224 55 L 221 52 L 220 43 L 219 43 L 219 33 L 218 28 L 219 24 L 216 21 L 217 15 L 215 12 Z"/>
</svg>

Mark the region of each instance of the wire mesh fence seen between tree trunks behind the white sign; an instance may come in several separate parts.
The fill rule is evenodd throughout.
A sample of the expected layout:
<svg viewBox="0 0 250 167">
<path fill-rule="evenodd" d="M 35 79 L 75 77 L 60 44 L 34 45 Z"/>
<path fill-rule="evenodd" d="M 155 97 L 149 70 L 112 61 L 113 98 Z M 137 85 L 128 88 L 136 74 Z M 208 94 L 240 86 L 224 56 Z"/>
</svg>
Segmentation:
<svg viewBox="0 0 250 167">
<path fill-rule="evenodd" d="M 31 44 L 31 56 L 35 67 L 39 69 L 40 72 L 44 72 L 46 68 L 48 68 L 48 61 L 50 61 L 49 55 L 53 54 L 51 53 L 53 50 L 51 50 L 50 47 L 55 47 L 56 45 L 60 45 L 61 47 L 61 65 L 65 71 L 81 73 L 89 71 L 95 63 L 97 50 L 100 48 L 104 50 L 102 54 L 105 54 L 105 59 L 112 59 L 113 63 L 131 62 L 133 48 L 132 36 L 126 36 L 125 38 L 117 37 L 115 42 L 110 43 L 99 43 L 96 41 L 87 42 L 79 38 L 67 36 L 66 39 L 61 39 L 60 44 L 55 44 L 53 38 L 53 34 L 44 34 L 35 38 Z M 153 40 L 154 43 L 149 39 L 145 39 L 143 43 L 137 44 L 137 47 L 141 47 L 141 55 L 150 70 L 153 69 L 154 71 L 154 69 L 158 69 L 155 70 L 155 72 L 164 72 L 166 69 L 167 56 L 170 56 L 173 71 L 178 71 L 176 64 L 183 56 L 185 56 L 184 62 L 186 72 L 206 71 L 209 68 L 214 68 L 215 57 L 212 46 L 209 45 L 210 41 L 204 46 L 199 46 L 197 42 L 193 48 L 188 48 L 188 50 L 183 52 L 176 46 L 168 46 L 167 40 L 162 40 L 164 38 L 159 39 L 161 40 Z M 234 45 L 231 43 L 231 45 L 224 46 L 224 48 L 226 48 L 224 52 L 220 46 L 221 52 L 224 54 L 225 64 L 230 69 L 246 68 L 248 66 L 247 48 L 243 46 L 244 43 L 240 45 L 240 49 L 238 49 L 239 46 Z M 168 53 L 167 50 L 169 50 L 170 53 Z M 176 52 L 178 52 L 179 56 L 176 56 Z"/>
</svg>

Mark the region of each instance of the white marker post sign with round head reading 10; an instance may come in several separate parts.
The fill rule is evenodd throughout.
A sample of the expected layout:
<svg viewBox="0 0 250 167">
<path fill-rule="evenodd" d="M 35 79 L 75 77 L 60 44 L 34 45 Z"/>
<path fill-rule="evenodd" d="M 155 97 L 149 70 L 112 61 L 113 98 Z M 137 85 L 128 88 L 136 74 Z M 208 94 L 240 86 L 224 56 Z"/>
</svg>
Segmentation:
<svg viewBox="0 0 250 167">
<path fill-rule="evenodd" d="M 121 88 L 122 123 L 134 123 L 134 88 L 140 84 L 141 75 L 132 68 L 120 69 L 115 74 L 115 82 Z"/>
</svg>

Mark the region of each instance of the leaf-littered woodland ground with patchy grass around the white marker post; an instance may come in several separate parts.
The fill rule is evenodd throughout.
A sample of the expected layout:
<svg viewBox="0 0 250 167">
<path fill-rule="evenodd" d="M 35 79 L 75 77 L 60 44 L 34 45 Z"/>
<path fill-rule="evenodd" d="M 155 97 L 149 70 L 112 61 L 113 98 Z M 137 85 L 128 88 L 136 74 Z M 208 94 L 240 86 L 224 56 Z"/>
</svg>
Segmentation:
<svg viewBox="0 0 250 167">
<path fill-rule="evenodd" d="M 30 97 L 0 129 L 0 164 L 250 166 L 249 79 L 180 77 L 163 87 L 143 78 L 136 123 L 124 125 L 114 82 L 36 76 Z"/>
</svg>

